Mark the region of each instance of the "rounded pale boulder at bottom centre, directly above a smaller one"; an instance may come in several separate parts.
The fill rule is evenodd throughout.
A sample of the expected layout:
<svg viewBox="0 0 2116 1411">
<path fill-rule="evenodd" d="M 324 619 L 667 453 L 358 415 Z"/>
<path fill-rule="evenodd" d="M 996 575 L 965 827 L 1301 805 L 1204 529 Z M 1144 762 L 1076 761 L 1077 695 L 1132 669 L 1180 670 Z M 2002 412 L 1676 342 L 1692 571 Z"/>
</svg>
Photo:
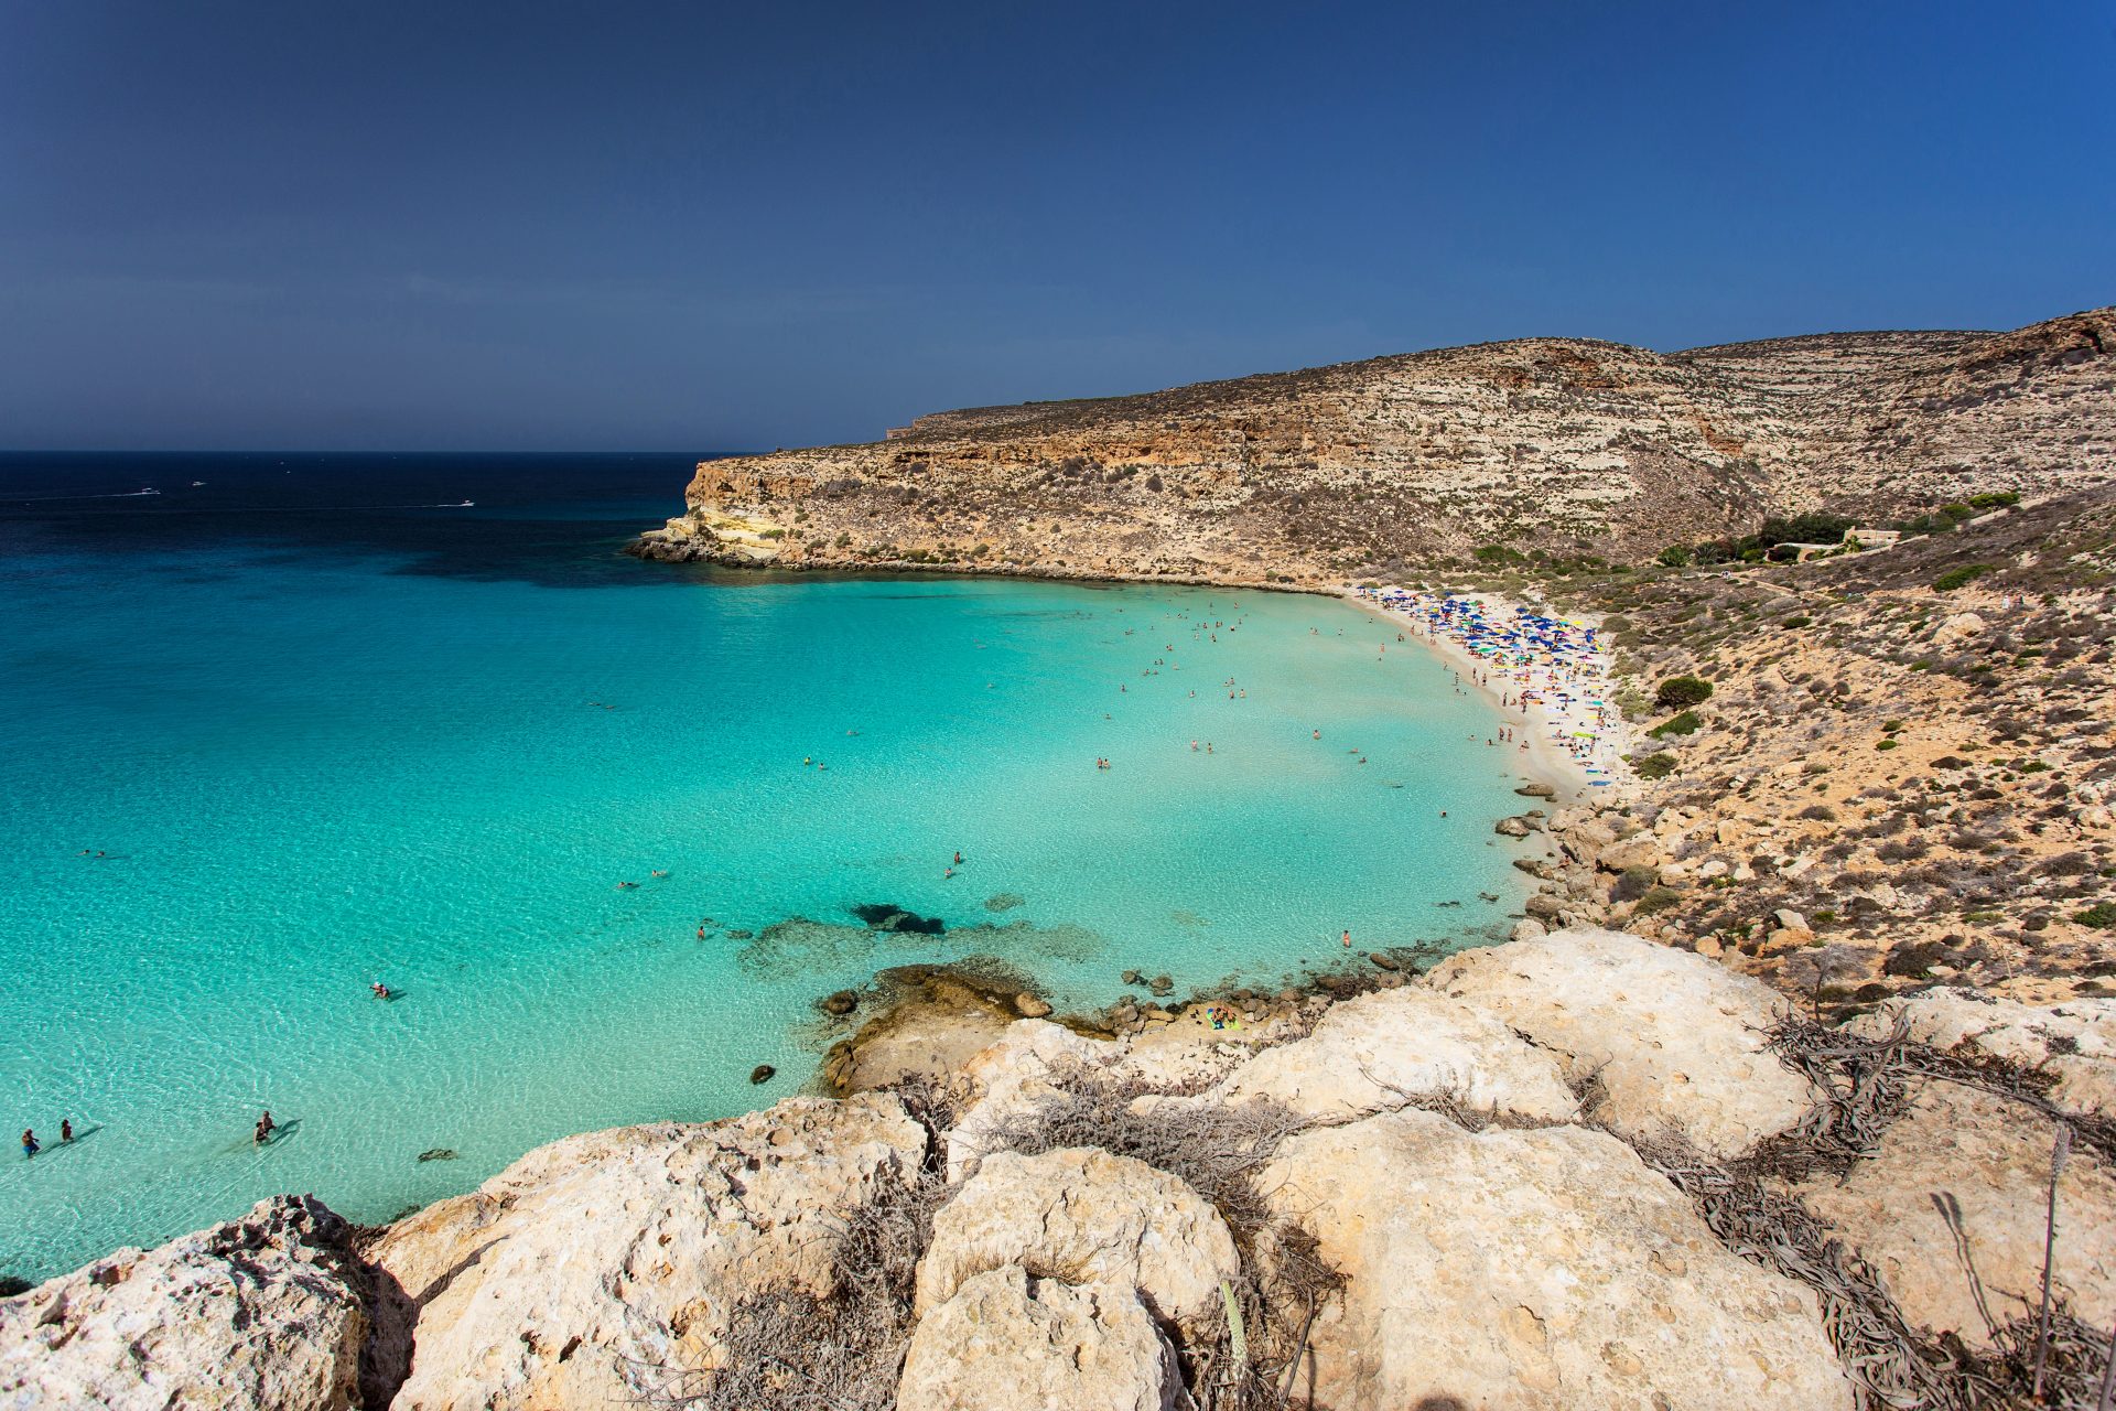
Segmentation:
<svg viewBox="0 0 2116 1411">
<path fill-rule="evenodd" d="M 984 1157 L 933 1216 L 933 1244 L 918 1263 L 918 1314 L 1007 1265 L 1136 1290 L 1157 1318 L 1185 1331 L 1212 1318 L 1219 1280 L 1240 1269 L 1227 1223 L 1198 1191 L 1098 1147 Z"/>
</svg>

